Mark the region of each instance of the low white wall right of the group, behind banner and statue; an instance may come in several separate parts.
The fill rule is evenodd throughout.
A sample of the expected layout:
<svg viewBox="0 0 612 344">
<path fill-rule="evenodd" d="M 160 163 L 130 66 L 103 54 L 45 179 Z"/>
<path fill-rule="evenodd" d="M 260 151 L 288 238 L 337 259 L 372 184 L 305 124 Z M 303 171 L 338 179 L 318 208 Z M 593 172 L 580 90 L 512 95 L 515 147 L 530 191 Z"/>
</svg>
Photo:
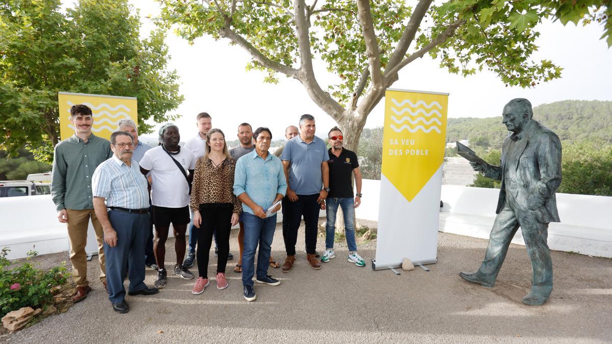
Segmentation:
<svg viewBox="0 0 612 344">
<path fill-rule="evenodd" d="M 378 220 L 380 182 L 364 180 L 358 219 Z M 488 239 L 495 219 L 498 189 L 442 185 L 439 231 Z M 557 193 L 560 223 L 548 226 L 553 250 L 612 257 L 612 197 Z M 521 230 L 512 241 L 524 245 Z"/>
</svg>

